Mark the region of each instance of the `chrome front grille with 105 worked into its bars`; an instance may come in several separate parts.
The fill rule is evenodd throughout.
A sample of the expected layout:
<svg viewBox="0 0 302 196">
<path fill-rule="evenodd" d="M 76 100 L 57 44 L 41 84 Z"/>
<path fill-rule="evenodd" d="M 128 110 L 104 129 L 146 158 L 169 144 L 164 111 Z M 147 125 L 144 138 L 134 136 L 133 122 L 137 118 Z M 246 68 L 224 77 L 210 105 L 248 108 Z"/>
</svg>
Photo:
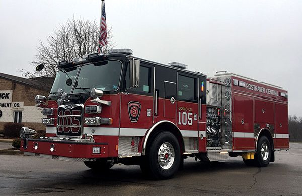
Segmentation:
<svg viewBox="0 0 302 196">
<path fill-rule="evenodd" d="M 83 130 L 83 104 L 58 107 L 57 135 L 81 137 Z"/>
</svg>

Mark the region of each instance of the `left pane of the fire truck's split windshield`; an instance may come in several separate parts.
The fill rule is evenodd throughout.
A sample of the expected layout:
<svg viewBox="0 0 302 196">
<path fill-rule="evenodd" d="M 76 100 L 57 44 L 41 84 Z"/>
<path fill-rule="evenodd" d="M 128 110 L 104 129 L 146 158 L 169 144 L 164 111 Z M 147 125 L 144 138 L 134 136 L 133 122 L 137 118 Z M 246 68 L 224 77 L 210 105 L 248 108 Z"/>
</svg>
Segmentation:
<svg viewBox="0 0 302 196">
<path fill-rule="evenodd" d="M 72 83 L 77 76 L 78 69 L 79 67 L 72 67 L 58 71 L 50 90 L 50 94 L 55 95 L 59 88 L 63 89 L 64 92 L 67 92 L 67 94 L 70 94 Z"/>
</svg>

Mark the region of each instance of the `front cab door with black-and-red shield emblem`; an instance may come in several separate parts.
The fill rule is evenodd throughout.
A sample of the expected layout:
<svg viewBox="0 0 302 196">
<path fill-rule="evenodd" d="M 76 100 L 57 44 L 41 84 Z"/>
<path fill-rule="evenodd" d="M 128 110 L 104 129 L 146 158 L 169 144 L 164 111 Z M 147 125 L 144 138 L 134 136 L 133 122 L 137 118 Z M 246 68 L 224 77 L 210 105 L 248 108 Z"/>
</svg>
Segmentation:
<svg viewBox="0 0 302 196">
<path fill-rule="evenodd" d="M 121 92 L 119 136 L 144 136 L 153 123 L 154 66 L 140 63 L 139 87 Z M 129 69 L 125 76 L 129 88 Z"/>
</svg>

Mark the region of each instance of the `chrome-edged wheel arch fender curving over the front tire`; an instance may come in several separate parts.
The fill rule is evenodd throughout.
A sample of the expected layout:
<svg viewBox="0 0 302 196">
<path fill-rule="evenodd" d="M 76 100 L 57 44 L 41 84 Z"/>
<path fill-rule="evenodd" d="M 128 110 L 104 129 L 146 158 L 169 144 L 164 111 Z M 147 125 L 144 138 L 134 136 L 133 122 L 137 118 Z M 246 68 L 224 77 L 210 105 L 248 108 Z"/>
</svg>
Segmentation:
<svg viewBox="0 0 302 196">
<path fill-rule="evenodd" d="M 179 128 L 171 121 L 163 120 L 155 123 L 146 133 L 142 144 L 142 155 L 146 154 L 147 145 L 152 138 L 162 131 L 171 132 L 178 140 L 181 152 L 184 152 L 184 141 Z"/>
</svg>

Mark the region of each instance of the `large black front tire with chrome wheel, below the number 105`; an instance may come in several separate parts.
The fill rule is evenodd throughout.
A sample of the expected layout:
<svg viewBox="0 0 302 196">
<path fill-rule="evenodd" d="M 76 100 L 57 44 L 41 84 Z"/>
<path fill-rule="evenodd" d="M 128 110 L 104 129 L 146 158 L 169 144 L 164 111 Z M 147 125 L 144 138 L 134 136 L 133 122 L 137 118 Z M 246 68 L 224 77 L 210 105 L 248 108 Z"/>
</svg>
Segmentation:
<svg viewBox="0 0 302 196">
<path fill-rule="evenodd" d="M 146 161 L 142 171 L 155 179 L 169 179 L 179 169 L 180 147 L 177 138 L 170 132 L 164 131 L 154 137 L 148 145 Z"/>
</svg>

